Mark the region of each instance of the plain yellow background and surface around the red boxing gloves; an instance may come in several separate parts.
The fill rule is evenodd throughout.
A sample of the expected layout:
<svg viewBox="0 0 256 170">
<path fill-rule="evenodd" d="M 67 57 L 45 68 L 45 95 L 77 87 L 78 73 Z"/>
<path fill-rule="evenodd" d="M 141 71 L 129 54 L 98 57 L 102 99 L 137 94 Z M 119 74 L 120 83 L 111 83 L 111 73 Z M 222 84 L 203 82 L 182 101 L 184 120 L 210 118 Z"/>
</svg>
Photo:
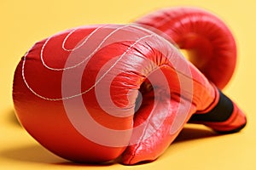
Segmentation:
<svg viewBox="0 0 256 170">
<path fill-rule="evenodd" d="M 71 0 L 0 1 L 0 169 L 256 169 L 256 3 L 254 0 Z M 15 120 L 11 98 L 15 66 L 32 44 L 57 31 L 98 23 L 127 23 L 157 8 L 189 5 L 222 18 L 238 44 L 236 74 L 224 93 L 247 113 L 241 133 L 216 135 L 186 127 L 152 163 L 79 165 L 49 153 Z"/>
</svg>

